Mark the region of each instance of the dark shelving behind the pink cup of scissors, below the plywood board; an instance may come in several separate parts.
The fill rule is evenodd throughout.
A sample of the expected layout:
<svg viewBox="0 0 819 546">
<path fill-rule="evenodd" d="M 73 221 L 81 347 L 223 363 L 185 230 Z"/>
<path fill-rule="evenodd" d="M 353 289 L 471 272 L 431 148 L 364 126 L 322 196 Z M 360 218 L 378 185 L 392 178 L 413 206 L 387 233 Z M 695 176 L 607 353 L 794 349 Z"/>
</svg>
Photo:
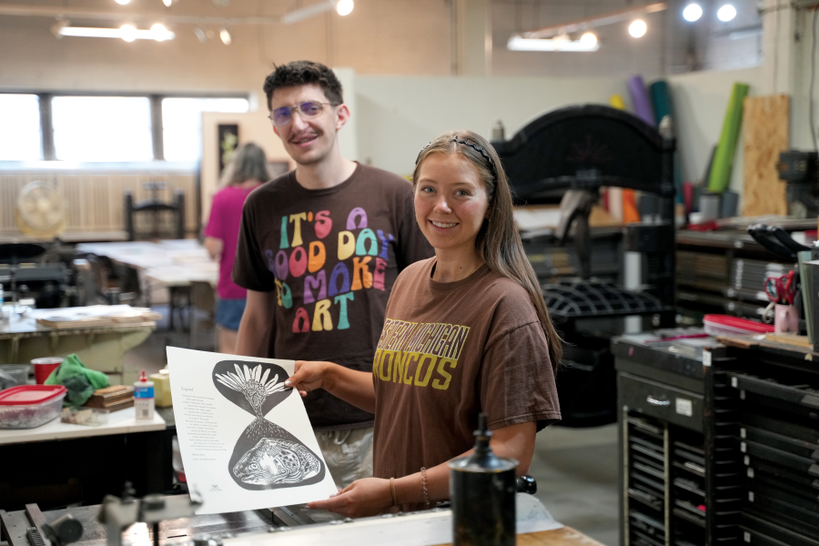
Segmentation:
<svg viewBox="0 0 819 546">
<path fill-rule="evenodd" d="M 769 300 L 763 283 L 780 277 L 795 264 L 773 258 L 744 231 L 677 234 L 677 307 L 684 316 L 701 320 L 709 313 L 762 319 Z"/>
</svg>

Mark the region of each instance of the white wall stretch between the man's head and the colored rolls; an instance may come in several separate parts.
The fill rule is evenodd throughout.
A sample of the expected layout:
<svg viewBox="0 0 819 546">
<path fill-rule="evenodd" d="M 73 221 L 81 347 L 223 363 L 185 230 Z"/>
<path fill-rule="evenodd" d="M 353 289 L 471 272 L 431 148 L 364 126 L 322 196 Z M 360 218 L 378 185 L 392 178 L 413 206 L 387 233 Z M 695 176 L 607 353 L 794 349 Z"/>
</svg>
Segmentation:
<svg viewBox="0 0 819 546">
<path fill-rule="evenodd" d="M 506 136 L 556 106 L 608 104 L 627 96 L 622 77 L 359 76 L 359 159 L 407 175 L 420 148 L 450 129 L 490 136 L 501 119 Z"/>
</svg>

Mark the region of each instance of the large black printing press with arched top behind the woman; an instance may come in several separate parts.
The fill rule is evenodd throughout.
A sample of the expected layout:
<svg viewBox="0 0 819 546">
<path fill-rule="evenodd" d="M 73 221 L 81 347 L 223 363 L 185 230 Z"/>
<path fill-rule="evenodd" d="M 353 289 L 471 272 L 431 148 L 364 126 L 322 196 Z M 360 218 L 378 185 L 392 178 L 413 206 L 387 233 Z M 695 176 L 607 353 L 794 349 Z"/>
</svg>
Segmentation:
<svg viewBox="0 0 819 546">
<path fill-rule="evenodd" d="M 609 339 L 625 331 L 625 318 L 638 317 L 643 329 L 675 324 L 675 143 L 670 125 L 669 118 L 663 120 L 661 133 L 609 106 L 567 106 L 536 118 L 509 140 L 492 142 L 516 205 L 561 206 L 560 225 L 551 233 L 522 237 L 551 318 L 566 341 L 557 376 L 565 426 L 599 426 L 617 419 Z M 617 228 L 622 250 L 598 243 L 601 230 L 595 233 L 589 225 L 602 187 L 631 188 L 648 197 L 642 221 Z M 574 275 L 539 270 L 534 255 L 564 245 L 572 225 Z M 612 249 L 619 255 L 615 259 L 620 258 L 619 274 L 601 275 L 601 258 L 611 259 Z M 636 288 L 622 286 L 624 252 L 639 255 Z"/>
</svg>

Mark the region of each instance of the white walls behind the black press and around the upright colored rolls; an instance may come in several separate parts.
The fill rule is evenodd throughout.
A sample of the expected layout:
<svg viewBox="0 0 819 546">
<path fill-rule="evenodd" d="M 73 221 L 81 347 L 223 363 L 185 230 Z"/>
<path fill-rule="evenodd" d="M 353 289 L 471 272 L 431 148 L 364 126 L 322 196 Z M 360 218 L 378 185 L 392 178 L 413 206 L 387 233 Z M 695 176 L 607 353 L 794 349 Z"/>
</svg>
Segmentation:
<svg viewBox="0 0 819 546">
<path fill-rule="evenodd" d="M 734 82 L 758 94 L 762 69 L 670 76 L 677 116 L 682 179 L 703 177 L 719 140 Z M 627 78 L 477 78 L 359 76 L 359 159 L 401 175 L 410 174 L 421 147 L 449 129 L 490 136 L 496 119 L 511 137 L 532 118 L 559 106 L 609 104 L 614 93 L 631 106 Z M 646 81 L 650 84 L 651 80 Z M 731 188 L 742 193 L 742 141 L 734 157 Z"/>
</svg>

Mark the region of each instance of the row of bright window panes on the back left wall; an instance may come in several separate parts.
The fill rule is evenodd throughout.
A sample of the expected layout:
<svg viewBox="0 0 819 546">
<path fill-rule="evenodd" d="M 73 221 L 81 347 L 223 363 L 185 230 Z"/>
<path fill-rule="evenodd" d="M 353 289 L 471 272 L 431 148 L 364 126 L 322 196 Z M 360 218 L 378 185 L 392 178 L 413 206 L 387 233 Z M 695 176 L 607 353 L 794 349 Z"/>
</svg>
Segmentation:
<svg viewBox="0 0 819 546">
<path fill-rule="evenodd" d="M 0 93 L 0 161 L 196 162 L 202 113 L 249 109 L 242 96 Z"/>
</svg>

